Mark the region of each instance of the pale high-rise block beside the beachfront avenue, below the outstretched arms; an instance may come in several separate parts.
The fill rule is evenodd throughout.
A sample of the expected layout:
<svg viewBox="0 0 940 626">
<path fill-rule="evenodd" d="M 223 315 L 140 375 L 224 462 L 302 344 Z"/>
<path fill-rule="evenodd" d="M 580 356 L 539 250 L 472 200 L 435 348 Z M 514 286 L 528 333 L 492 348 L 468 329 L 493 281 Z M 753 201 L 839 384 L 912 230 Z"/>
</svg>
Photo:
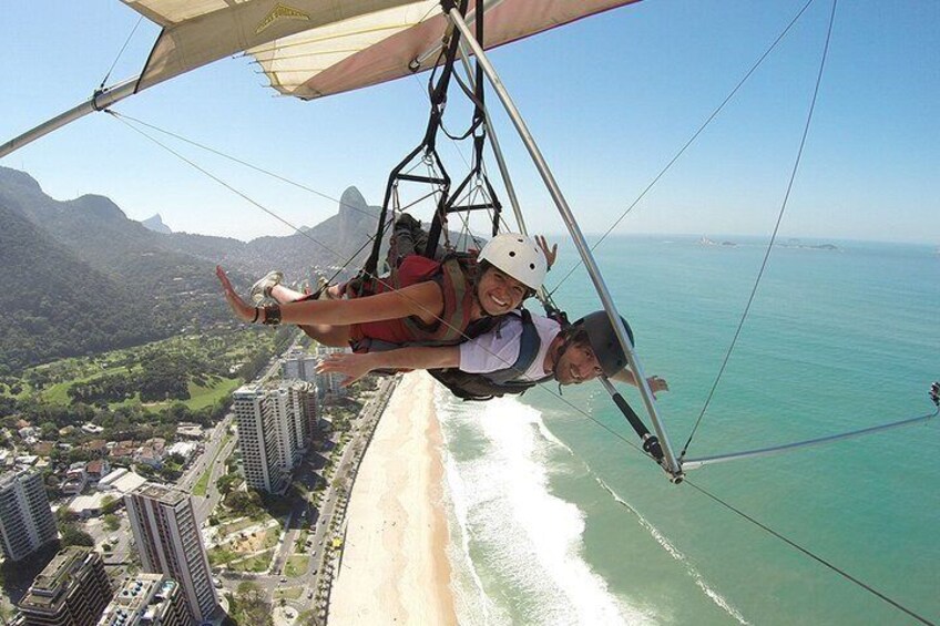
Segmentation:
<svg viewBox="0 0 940 626">
<path fill-rule="evenodd" d="M 316 423 L 313 386 L 299 380 L 275 388 L 246 384 L 232 397 L 245 481 L 278 493 L 310 441 Z"/>
</svg>

